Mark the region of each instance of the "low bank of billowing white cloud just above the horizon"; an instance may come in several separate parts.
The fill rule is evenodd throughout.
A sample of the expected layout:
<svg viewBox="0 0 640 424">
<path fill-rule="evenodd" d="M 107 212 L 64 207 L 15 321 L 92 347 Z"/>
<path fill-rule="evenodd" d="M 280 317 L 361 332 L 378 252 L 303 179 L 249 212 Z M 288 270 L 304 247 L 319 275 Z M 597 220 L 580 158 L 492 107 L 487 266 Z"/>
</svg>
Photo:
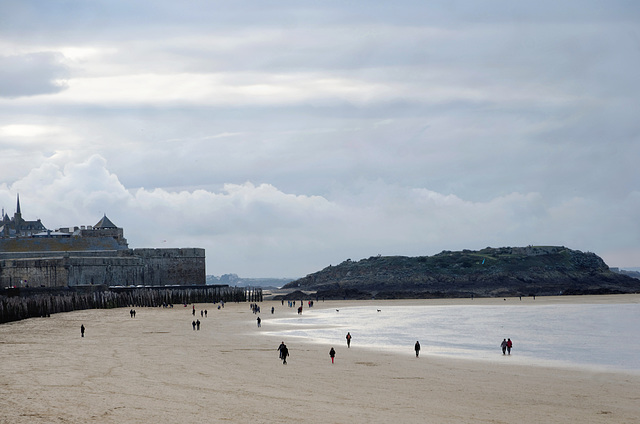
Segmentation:
<svg viewBox="0 0 640 424">
<path fill-rule="evenodd" d="M 45 163 L 11 187 L 0 187 L 7 210 L 18 192 L 23 215 L 37 216 L 48 227 L 92 225 L 106 213 L 124 227 L 132 247 L 203 247 L 208 273 L 245 276 L 302 276 L 376 254 L 528 244 L 602 250 L 610 259 L 628 260 L 626 250 L 609 253 L 619 245 L 611 235 L 625 225 L 634 225 L 629 234 L 638 234 L 638 225 L 620 222 L 615 214 L 626 208 L 640 212 L 637 193 L 620 207 L 594 214 L 598 205 L 588 199 L 547 205 L 539 193 L 512 193 L 472 202 L 382 182 L 330 197 L 250 182 L 226 184 L 218 192 L 129 190 L 99 156 L 64 168 Z M 631 235 L 625 245 L 633 249 L 637 241 Z"/>
</svg>

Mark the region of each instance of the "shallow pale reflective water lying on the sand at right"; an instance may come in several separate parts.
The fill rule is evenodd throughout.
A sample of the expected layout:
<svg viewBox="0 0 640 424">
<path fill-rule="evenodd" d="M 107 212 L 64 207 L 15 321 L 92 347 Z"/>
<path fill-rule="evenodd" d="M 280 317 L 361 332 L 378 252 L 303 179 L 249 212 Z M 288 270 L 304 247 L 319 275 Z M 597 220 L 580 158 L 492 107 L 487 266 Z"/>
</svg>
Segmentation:
<svg viewBox="0 0 640 424">
<path fill-rule="evenodd" d="M 378 311 L 380 309 L 380 311 Z M 421 356 L 505 360 L 500 343 L 511 338 L 508 360 L 640 372 L 640 304 L 438 305 L 307 308 L 270 322 L 283 339 L 304 337 L 326 346 L 365 347 Z M 289 343 L 289 342 L 287 342 Z M 327 347 L 328 349 L 328 347 Z"/>
</svg>

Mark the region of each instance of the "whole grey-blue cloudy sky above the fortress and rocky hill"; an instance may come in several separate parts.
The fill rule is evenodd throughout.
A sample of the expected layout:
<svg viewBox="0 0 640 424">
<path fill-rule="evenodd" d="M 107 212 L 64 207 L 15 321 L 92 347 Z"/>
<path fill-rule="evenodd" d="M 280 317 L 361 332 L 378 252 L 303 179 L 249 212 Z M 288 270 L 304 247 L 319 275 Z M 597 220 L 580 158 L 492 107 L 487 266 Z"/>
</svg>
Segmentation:
<svg viewBox="0 0 640 424">
<path fill-rule="evenodd" d="M 207 274 L 640 266 L 640 2 L 0 0 L 0 206 Z"/>
</svg>

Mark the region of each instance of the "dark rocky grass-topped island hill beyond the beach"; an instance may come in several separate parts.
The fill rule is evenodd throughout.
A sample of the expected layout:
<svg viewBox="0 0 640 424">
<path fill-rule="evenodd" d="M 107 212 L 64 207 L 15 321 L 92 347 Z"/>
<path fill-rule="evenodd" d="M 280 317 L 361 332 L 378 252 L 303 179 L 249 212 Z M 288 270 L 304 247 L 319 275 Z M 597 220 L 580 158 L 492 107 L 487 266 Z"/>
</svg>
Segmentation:
<svg viewBox="0 0 640 424">
<path fill-rule="evenodd" d="M 634 293 L 640 281 L 612 272 L 594 253 L 528 246 L 347 259 L 283 289 L 326 299 L 503 297 Z"/>
</svg>

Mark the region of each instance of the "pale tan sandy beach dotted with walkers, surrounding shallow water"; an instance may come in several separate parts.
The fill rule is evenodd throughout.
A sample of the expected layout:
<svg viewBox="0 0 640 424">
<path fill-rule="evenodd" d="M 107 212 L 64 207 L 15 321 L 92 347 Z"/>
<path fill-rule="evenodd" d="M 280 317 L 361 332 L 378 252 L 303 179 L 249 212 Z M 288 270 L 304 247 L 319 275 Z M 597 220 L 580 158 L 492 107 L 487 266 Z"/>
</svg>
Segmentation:
<svg viewBox="0 0 640 424">
<path fill-rule="evenodd" d="M 511 299 L 476 299 L 508 302 Z M 384 301 L 376 301 L 381 304 Z M 446 304 L 468 300 L 406 300 Z M 640 303 L 638 295 L 536 302 Z M 317 302 L 316 308 L 362 301 Z M 276 314 L 265 313 L 275 306 Z M 86 310 L 0 326 L 1 423 L 633 423 L 637 373 L 476 362 L 259 334 L 295 314 L 262 302 Z M 201 317 L 200 310 L 208 316 Z M 201 321 L 193 330 L 194 319 Z M 86 327 L 80 337 L 80 326 Z"/>
</svg>

